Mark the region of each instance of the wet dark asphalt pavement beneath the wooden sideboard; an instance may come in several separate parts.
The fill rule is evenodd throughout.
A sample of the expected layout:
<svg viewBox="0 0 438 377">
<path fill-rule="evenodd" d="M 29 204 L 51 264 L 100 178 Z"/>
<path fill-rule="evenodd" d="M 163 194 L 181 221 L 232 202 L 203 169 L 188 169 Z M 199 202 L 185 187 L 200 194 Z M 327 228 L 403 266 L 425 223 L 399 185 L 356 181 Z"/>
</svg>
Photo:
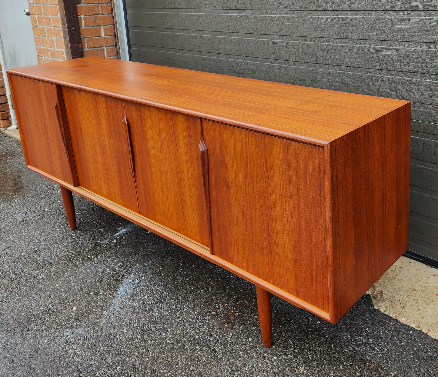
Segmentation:
<svg viewBox="0 0 438 377">
<path fill-rule="evenodd" d="M 255 287 L 25 169 L 0 134 L 1 376 L 438 376 L 438 340 L 368 295 L 337 323 Z"/>
</svg>

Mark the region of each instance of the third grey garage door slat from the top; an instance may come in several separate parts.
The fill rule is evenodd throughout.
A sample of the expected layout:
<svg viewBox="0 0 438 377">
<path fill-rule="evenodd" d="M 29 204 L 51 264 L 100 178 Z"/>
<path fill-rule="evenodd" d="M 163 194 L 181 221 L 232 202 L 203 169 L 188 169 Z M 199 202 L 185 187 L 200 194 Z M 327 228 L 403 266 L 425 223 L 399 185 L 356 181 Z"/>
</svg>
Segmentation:
<svg viewBox="0 0 438 377">
<path fill-rule="evenodd" d="M 366 40 L 343 39 L 335 43 L 333 39 L 287 40 L 248 38 L 248 36 L 204 35 L 183 32 L 156 32 L 150 30 L 131 30 L 131 46 L 138 48 L 144 41 L 149 47 L 185 50 L 203 53 L 246 56 L 248 58 L 266 58 L 272 60 L 289 60 L 304 63 L 336 65 L 342 62 L 346 66 L 379 70 L 394 70 L 435 74 L 437 67 L 438 44 L 429 48 L 406 48 L 380 46 Z M 304 39 L 304 40 L 303 40 Z"/>
</svg>

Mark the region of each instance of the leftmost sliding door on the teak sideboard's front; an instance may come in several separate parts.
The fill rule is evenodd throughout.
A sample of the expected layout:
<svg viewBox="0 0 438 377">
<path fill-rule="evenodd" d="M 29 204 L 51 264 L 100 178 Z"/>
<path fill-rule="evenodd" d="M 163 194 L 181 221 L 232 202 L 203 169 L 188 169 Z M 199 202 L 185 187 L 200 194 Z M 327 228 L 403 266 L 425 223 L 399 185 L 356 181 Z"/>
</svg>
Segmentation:
<svg viewBox="0 0 438 377">
<path fill-rule="evenodd" d="M 61 88 L 10 75 L 26 165 L 76 186 Z"/>
</svg>

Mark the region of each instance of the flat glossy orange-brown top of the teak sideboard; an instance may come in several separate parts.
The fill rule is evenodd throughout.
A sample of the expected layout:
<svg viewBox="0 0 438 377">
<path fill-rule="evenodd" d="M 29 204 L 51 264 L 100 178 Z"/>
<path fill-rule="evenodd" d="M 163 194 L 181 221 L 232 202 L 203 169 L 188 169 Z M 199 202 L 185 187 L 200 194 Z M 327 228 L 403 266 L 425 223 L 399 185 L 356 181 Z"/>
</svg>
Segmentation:
<svg viewBox="0 0 438 377">
<path fill-rule="evenodd" d="M 7 71 L 318 146 L 409 103 L 94 56 Z"/>
</svg>

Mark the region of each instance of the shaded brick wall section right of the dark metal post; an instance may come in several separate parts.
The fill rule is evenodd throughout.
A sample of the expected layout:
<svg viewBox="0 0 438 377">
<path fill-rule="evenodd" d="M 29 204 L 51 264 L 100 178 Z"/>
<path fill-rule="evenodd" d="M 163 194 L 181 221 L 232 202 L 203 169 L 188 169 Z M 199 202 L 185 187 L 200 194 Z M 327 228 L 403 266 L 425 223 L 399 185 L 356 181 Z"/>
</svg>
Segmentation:
<svg viewBox="0 0 438 377">
<path fill-rule="evenodd" d="M 84 56 L 117 58 L 111 0 L 76 0 Z"/>
</svg>

